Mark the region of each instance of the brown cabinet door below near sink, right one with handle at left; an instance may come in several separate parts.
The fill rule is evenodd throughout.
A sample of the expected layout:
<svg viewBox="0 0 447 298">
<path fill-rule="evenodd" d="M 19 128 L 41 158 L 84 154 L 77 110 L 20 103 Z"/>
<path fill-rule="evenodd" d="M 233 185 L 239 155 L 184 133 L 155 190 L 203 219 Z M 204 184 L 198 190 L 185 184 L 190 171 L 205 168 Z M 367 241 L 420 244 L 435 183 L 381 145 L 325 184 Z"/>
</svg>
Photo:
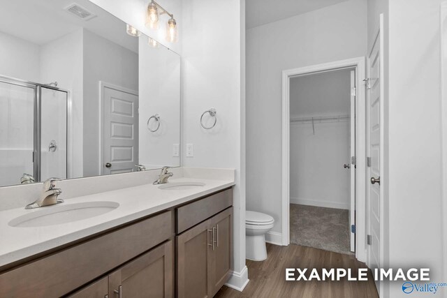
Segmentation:
<svg viewBox="0 0 447 298">
<path fill-rule="evenodd" d="M 109 297 L 174 297 L 173 255 L 173 241 L 168 241 L 114 271 Z"/>
</svg>

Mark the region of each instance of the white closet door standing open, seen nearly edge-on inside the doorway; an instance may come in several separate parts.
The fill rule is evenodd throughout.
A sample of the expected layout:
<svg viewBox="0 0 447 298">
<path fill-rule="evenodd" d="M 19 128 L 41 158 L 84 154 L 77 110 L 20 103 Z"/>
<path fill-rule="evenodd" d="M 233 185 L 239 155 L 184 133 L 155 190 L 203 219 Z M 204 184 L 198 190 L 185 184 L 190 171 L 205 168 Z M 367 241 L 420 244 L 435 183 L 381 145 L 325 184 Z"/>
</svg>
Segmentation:
<svg viewBox="0 0 447 298">
<path fill-rule="evenodd" d="M 351 108 L 350 108 L 350 144 L 349 144 L 349 167 L 350 174 L 350 206 L 349 206 L 349 232 L 351 233 L 351 251 L 356 251 L 356 233 L 352 229 L 356 225 L 356 163 L 352 162 L 352 157 L 356 156 L 356 70 L 351 70 Z"/>
</svg>

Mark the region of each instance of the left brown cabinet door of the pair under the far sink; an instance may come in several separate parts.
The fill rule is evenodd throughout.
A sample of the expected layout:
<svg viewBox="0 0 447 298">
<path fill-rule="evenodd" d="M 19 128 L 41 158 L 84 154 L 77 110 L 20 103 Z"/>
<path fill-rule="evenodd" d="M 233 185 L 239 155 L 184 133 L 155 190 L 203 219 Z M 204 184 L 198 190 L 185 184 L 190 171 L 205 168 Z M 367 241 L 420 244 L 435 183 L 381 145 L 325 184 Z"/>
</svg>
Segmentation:
<svg viewBox="0 0 447 298">
<path fill-rule="evenodd" d="M 212 249 L 211 224 L 211 220 L 204 221 L 177 236 L 178 298 L 210 297 L 207 251 Z"/>
</svg>

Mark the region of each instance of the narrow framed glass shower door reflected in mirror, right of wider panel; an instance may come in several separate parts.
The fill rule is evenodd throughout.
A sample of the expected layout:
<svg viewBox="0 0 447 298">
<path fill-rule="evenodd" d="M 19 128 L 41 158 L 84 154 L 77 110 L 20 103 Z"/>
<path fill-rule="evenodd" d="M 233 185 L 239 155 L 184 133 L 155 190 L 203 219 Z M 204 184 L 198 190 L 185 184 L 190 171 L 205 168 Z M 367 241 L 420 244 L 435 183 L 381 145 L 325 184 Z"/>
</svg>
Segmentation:
<svg viewBox="0 0 447 298">
<path fill-rule="evenodd" d="M 66 91 L 40 88 L 41 181 L 50 177 L 67 178 L 67 100 Z"/>
</svg>

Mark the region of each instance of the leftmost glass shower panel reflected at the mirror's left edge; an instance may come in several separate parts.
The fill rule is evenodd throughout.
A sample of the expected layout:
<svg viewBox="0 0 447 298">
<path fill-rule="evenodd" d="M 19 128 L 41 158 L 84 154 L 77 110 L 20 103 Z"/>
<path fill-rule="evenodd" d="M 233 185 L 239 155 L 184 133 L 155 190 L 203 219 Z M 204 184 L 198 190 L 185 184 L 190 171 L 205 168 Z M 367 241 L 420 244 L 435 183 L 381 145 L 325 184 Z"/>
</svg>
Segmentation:
<svg viewBox="0 0 447 298">
<path fill-rule="evenodd" d="M 0 186 L 34 175 L 36 87 L 0 81 Z"/>
</svg>

